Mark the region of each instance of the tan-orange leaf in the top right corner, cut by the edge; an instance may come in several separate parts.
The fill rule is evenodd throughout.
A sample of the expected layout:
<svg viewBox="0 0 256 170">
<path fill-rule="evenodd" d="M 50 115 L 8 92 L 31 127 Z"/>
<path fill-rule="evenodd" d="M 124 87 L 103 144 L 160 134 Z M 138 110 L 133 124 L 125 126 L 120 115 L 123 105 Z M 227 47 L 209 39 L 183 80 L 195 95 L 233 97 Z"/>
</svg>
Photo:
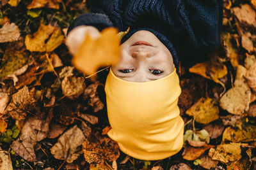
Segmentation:
<svg viewBox="0 0 256 170">
<path fill-rule="evenodd" d="M 234 7 L 232 11 L 240 24 L 256 28 L 256 13 L 249 4 L 243 4 L 241 8 Z"/>
</svg>

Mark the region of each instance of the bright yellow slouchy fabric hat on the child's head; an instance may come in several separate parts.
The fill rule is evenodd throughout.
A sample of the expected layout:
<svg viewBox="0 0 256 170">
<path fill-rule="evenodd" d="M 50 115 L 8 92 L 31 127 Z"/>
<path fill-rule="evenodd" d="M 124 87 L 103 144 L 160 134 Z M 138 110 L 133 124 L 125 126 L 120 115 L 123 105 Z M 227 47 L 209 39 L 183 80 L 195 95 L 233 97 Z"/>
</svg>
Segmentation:
<svg viewBox="0 0 256 170">
<path fill-rule="evenodd" d="M 110 69 L 106 80 L 109 138 L 122 152 L 141 160 L 159 160 L 179 152 L 184 121 L 180 117 L 179 76 L 176 71 L 159 80 L 131 82 Z"/>
</svg>

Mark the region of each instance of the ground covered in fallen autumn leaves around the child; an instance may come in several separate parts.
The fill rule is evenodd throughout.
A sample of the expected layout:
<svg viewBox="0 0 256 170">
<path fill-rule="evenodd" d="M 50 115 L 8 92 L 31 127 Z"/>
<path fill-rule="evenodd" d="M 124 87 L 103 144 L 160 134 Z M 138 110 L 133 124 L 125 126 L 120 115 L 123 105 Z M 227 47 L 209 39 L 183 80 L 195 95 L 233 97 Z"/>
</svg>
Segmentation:
<svg viewBox="0 0 256 170">
<path fill-rule="evenodd" d="M 169 161 L 133 159 L 106 135 L 107 71 L 87 78 L 65 46 L 85 1 L 0 6 L 0 169 L 256 169 L 255 0 L 225 0 L 221 48 L 180 67 L 185 144 Z"/>
</svg>

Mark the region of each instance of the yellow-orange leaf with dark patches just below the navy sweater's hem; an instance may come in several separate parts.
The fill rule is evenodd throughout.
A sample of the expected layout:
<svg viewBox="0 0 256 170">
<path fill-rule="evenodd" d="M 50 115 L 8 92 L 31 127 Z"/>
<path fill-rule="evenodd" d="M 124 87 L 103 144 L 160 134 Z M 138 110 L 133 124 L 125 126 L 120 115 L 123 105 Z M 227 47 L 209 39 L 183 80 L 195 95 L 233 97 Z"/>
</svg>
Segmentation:
<svg viewBox="0 0 256 170">
<path fill-rule="evenodd" d="M 213 80 L 216 83 L 220 83 L 219 78 L 223 78 L 223 76 L 227 75 L 228 73 L 225 65 L 216 66 L 210 61 L 196 64 L 195 66 L 189 68 L 189 72 L 204 76 L 205 78 Z"/>
</svg>

